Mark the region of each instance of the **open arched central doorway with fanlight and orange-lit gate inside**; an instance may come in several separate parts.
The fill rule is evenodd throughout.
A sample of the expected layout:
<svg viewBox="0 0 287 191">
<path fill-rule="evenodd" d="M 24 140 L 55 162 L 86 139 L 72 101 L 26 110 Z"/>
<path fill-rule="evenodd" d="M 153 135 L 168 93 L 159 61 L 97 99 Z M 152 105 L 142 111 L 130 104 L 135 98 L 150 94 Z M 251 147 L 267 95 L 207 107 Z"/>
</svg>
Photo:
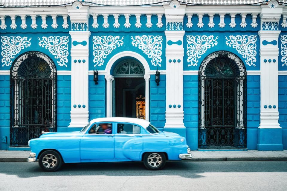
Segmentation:
<svg viewBox="0 0 287 191">
<path fill-rule="evenodd" d="M 113 73 L 112 116 L 145 119 L 144 73 L 144 67 L 136 60 L 117 64 Z"/>
</svg>

